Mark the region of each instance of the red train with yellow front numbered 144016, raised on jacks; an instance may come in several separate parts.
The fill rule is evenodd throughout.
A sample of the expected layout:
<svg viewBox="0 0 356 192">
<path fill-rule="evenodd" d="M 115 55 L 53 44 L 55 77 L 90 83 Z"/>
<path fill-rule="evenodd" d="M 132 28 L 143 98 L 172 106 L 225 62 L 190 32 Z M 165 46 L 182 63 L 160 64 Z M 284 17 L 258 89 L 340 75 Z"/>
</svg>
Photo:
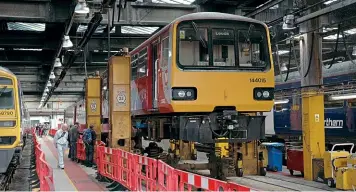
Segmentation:
<svg viewBox="0 0 356 192">
<path fill-rule="evenodd" d="M 209 163 L 222 164 L 210 166 L 216 177 L 227 176 L 227 169 L 265 175 L 259 140 L 265 136 L 263 112 L 273 108 L 270 47 L 268 27 L 255 19 L 213 12 L 175 19 L 129 53 L 132 125 L 148 140 L 169 139 L 173 153 L 177 141 L 215 145 L 220 153 L 212 151 Z"/>
</svg>

